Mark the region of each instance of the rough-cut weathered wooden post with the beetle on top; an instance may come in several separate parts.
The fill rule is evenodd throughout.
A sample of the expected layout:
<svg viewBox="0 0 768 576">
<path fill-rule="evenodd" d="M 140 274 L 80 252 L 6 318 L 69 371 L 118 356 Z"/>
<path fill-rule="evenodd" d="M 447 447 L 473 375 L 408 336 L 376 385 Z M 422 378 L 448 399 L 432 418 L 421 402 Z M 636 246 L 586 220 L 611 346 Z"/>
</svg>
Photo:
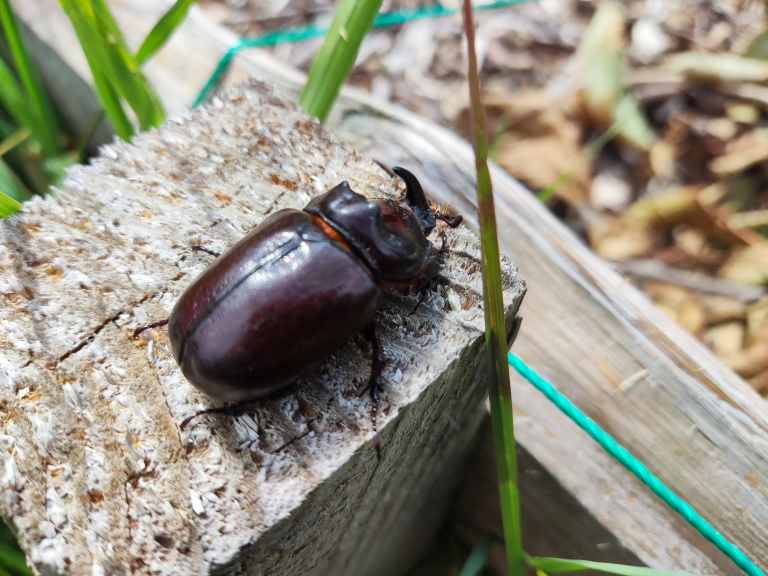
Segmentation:
<svg viewBox="0 0 768 576">
<path fill-rule="evenodd" d="M 476 237 L 441 275 L 383 301 L 388 363 L 371 445 L 353 342 L 239 417 L 187 383 L 164 329 L 210 261 L 341 180 L 395 180 L 264 85 L 235 90 L 71 171 L 0 222 L 0 515 L 56 574 L 403 573 L 423 554 L 484 414 Z M 439 242 L 439 241 L 438 241 Z M 504 265 L 507 321 L 524 287 Z M 297 278 L 301 282 L 301 278 Z"/>
</svg>

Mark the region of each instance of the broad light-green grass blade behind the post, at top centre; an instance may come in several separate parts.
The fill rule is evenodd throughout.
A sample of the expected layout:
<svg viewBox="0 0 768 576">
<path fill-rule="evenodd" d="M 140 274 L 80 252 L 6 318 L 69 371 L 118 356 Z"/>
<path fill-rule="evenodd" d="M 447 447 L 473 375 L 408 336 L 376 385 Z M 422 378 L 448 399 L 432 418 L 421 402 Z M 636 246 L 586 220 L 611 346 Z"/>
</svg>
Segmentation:
<svg viewBox="0 0 768 576">
<path fill-rule="evenodd" d="M 320 122 L 328 118 L 380 6 L 381 0 L 339 2 L 299 98 L 299 105 Z"/>
</svg>

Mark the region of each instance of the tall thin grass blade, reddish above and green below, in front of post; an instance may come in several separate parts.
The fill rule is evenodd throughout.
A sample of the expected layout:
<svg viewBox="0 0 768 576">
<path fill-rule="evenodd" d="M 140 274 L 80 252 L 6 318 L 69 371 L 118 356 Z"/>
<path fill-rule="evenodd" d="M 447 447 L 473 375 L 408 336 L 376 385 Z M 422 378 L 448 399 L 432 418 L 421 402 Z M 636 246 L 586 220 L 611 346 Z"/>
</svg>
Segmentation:
<svg viewBox="0 0 768 576">
<path fill-rule="evenodd" d="M 509 573 L 523 575 L 523 551 L 520 534 L 520 504 L 515 459 L 515 433 L 512 422 L 512 390 L 507 366 L 507 340 L 504 325 L 504 302 L 501 292 L 501 266 L 496 233 L 491 175 L 488 170 L 488 151 L 485 144 L 483 112 L 480 101 L 480 75 L 475 56 L 475 29 L 472 4 L 464 0 L 464 30 L 467 35 L 469 56 L 470 116 L 473 128 L 472 143 L 477 169 L 477 194 L 482 243 L 483 302 L 485 308 L 485 339 L 488 356 L 488 395 L 491 403 L 493 444 L 499 477 L 501 517 Z"/>
</svg>

